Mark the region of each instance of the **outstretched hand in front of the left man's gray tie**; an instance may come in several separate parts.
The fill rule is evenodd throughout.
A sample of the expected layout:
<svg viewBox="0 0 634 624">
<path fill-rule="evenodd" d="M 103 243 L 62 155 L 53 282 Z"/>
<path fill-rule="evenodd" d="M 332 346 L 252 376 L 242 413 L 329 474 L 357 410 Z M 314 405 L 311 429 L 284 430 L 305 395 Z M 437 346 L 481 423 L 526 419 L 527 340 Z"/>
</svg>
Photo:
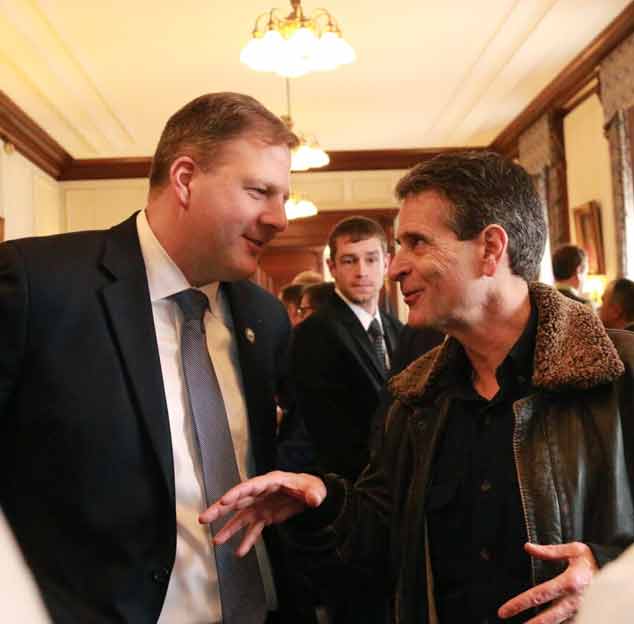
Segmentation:
<svg viewBox="0 0 634 624">
<path fill-rule="evenodd" d="M 214 542 L 224 544 L 244 528 L 244 537 L 236 551 L 239 557 L 243 557 L 255 544 L 265 526 L 284 522 L 307 507 L 318 507 L 324 498 L 326 486 L 318 477 L 276 470 L 231 488 L 200 514 L 198 521 L 209 524 L 236 512 L 215 534 Z"/>
</svg>

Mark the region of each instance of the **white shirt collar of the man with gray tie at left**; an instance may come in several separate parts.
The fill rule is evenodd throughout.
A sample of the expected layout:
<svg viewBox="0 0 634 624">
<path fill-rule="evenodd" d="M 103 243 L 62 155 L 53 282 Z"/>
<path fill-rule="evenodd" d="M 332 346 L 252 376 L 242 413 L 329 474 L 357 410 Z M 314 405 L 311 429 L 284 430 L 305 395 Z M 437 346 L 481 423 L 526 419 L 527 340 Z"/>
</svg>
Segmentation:
<svg viewBox="0 0 634 624">
<path fill-rule="evenodd" d="M 156 238 L 145 210 L 137 215 L 136 226 L 152 303 L 192 288 L 178 265 Z M 214 303 L 218 300 L 218 282 L 201 286 L 198 290 L 207 295 L 213 309 Z"/>
</svg>

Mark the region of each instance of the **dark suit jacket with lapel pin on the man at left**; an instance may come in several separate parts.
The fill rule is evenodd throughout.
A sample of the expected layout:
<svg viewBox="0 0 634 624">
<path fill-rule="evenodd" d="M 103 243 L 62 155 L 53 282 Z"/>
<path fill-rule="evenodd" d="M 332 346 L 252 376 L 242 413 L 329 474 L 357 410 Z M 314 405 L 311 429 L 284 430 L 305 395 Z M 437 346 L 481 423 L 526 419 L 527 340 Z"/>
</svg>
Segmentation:
<svg viewBox="0 0 634 624">
<path fill-rule="evenodd" d="M 265 472 L 288 319 L 250 282 L 223 288 Z M 0 503 L 54 620 L 156 622 L 175 557 L 174 469 L 135 217 L 0 245 L 0 327 Z"/>
</svg>

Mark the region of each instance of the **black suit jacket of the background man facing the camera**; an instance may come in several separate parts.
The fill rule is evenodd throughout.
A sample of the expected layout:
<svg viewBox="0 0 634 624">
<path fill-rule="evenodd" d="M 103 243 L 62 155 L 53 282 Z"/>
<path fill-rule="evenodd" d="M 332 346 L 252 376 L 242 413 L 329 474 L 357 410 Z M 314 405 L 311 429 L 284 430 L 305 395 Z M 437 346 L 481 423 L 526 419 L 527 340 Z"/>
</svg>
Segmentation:
<svg viewBox="0 0 634 624">
<path fill-rule="evenodd" d="M 384 313 L 381 321 L 391 356 L 402 324 Z M 290 361 L 297 414 L 319 468 L 356 479 L 369 459 L 372 415 L 386 375 L 361 322 L 339 295 L 296 326 Z"/>
</svg>

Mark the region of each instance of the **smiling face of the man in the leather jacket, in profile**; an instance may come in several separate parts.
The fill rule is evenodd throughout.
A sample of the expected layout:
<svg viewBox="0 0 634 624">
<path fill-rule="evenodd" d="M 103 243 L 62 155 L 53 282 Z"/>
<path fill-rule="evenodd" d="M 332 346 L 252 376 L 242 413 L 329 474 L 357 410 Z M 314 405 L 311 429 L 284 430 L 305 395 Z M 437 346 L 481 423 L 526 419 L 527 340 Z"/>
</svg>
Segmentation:
<svg viewBox="0 0 634 624">
<path fill-rule="evenodd" d="M 447 225 L 451 207 L 435 191 L 408 196 L 399 213 L 400 249 L 390 278 L 409 306 L 408 324 L 447 331 L 467 323 L 482 304 L 478 245 Z"/>
</svg>

